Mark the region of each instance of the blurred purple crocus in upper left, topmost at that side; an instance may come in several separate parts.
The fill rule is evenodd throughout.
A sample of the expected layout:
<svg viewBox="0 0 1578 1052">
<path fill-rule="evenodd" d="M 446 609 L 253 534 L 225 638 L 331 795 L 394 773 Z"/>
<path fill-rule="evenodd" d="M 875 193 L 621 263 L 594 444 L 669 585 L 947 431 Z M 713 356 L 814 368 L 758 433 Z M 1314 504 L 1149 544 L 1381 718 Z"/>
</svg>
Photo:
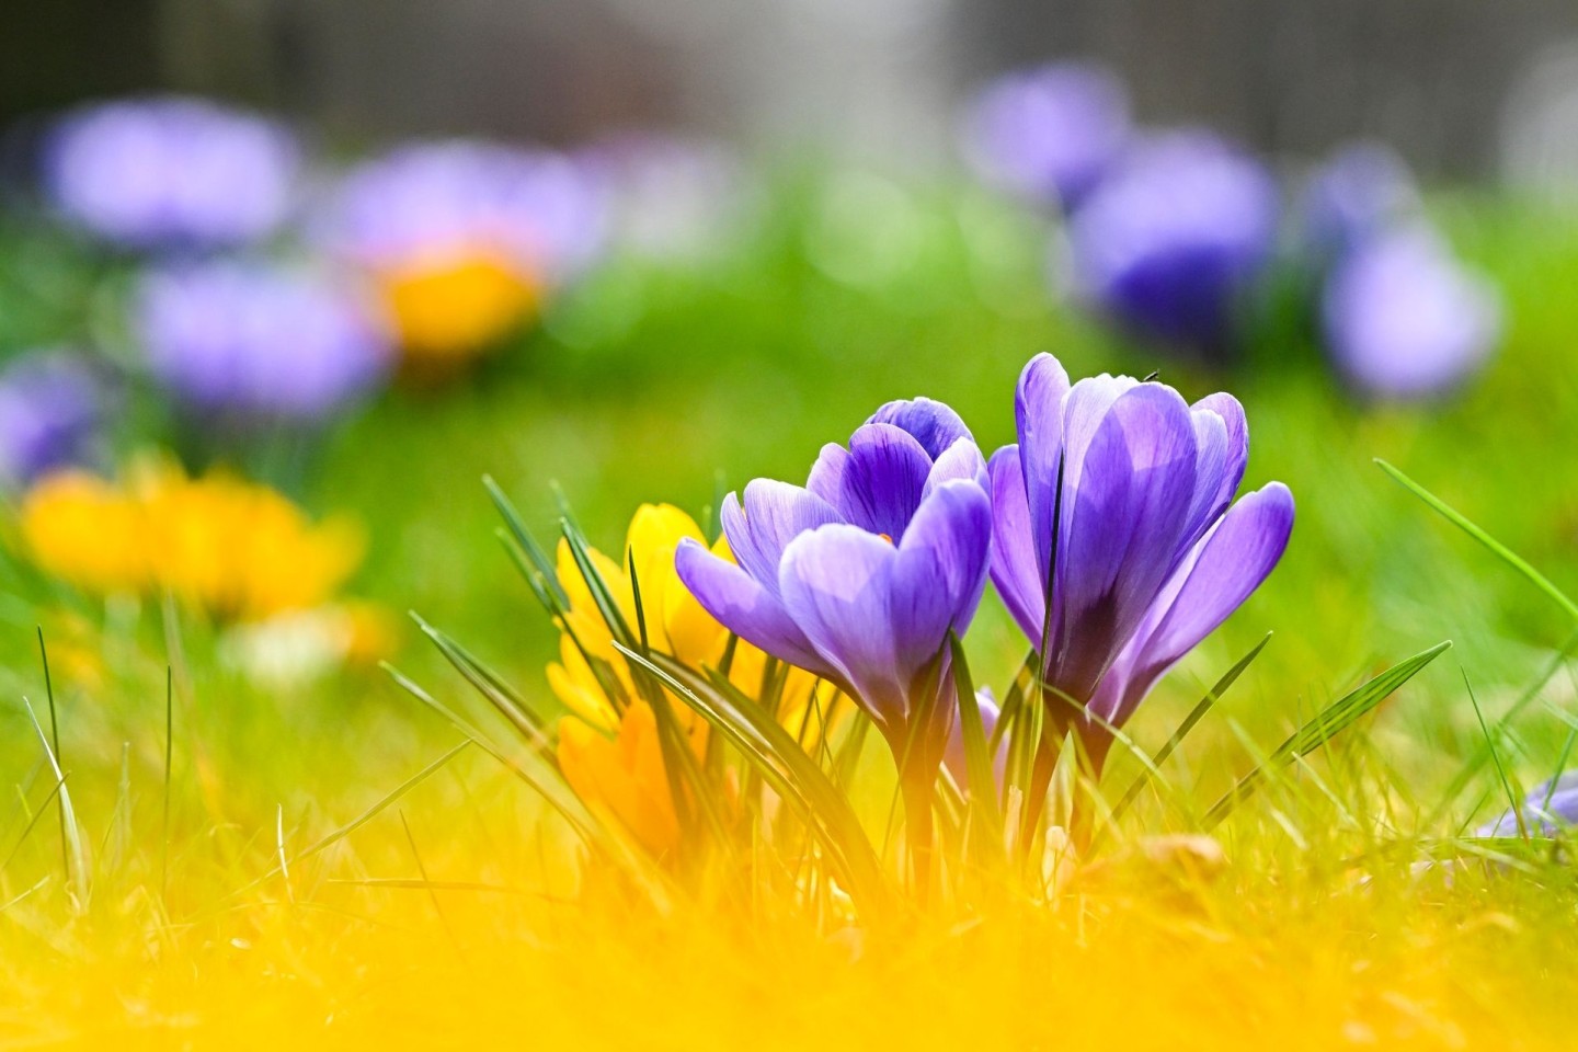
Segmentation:
<svg viewBox="0 0 1578 1052">
<path fill-rule="evenodd" d="M 46 148 L 55 205 L 134 249 L 226 248 L 290 210 L 300 150 L 284 126 L 189 98 L 144 98 L 68 115 Z"/>
</svg>

